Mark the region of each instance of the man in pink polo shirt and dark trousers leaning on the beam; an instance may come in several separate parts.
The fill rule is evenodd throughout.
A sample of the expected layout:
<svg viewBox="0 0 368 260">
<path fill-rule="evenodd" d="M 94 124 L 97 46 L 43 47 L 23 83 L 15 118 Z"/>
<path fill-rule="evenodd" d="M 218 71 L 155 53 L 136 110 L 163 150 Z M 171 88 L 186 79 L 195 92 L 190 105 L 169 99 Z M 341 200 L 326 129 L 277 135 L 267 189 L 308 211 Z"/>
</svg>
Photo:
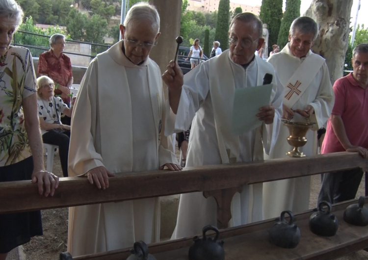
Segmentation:
<svg viewBox="0 0 368 260">
<path fill-rule="evenodd" d="M 358 152 L 368 158 L 368 44 L 353 50 L 353 72 L 334 84 L 335 104 L 327 124 L 322 154 Z M 355 198 L 363 170 L 326 173 L 318 202 L 337 203 Z"/>
</svg>

